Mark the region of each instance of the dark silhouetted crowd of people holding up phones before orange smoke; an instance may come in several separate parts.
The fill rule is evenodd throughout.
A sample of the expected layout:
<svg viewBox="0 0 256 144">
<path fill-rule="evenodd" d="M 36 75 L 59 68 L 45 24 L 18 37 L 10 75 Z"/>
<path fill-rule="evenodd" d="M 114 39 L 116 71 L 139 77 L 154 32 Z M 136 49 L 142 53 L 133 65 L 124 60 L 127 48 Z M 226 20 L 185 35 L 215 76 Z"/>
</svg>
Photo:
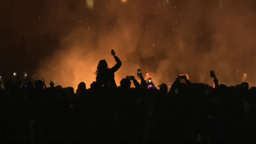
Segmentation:
<svg viewBox="0 0 256 144">
<path fill-rule="evenodd" d="M 172 87 L 144 80 L 120 81 L 116 65 L 101 60 L 96 81 L 72 87 L 5 82 L 0 90 L 1 143 L 255 143 L 256 87 L 215 87 L 178 76 Z M 139 83 L 136 78 L 141 82 Z M 135 85 L 131 88 L 131 83 Z M 3 88 L 4 86 L 4 88 Z"/>
</svg>

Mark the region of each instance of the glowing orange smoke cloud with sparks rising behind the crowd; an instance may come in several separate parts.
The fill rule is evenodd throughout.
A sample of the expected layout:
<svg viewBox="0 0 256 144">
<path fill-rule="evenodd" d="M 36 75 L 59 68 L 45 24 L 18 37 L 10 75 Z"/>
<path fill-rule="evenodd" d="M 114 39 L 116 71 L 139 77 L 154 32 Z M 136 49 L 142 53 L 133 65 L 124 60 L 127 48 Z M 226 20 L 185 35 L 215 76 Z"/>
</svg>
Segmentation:
<svg viewBox="0 0 256 144">
<path fill-rule="evenodd" d="M 89 87 L 99 60 L 115 64 L 111 49 L 123 63 L 117 84 L 136 75 L 137 68 L 153 75 L 155 83 L 172 83 L 179 74 L 211 82 L 209 71 L 215 70 L 221 83 L 232 84 L 236 69 L 253 73 L 255 1 L 223 0 L 221 7 L 215 0 L 166 2 L 95 0 L 89 9 L 86 1 L 49 1 L 48 29 L 41 33 L 58 43 L 40 61 L 37 76 L 64 86 L 84 81 Z"/>
</svg>

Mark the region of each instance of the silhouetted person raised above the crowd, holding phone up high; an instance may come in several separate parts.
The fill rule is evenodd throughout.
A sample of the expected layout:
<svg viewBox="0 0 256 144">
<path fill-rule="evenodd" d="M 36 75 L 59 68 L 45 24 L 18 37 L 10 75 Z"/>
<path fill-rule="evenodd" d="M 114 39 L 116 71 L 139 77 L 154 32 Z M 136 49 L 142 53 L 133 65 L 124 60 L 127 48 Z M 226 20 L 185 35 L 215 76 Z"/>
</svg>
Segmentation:
<svg viewBox="0 0 256 144">
<path fill-rule="evenodd" d="M 115 52 L 112 54 L 116 60 L 116 64 L 112 67 L 108 67 L 106 60 L 100 60 L 96 70 L 96 82 L 100 85 L 108 87 L 117 87 L 115 82 L 115 72 L 121 67 L 122 62 L 115 56 Z"/>
</svg>

